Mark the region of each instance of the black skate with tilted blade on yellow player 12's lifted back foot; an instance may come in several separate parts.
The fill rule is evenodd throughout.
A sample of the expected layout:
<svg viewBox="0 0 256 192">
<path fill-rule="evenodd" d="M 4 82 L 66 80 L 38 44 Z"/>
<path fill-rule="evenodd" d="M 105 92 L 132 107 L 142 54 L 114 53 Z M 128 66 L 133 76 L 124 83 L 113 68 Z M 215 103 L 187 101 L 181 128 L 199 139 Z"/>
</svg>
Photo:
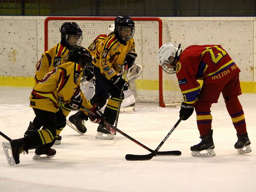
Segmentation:
<svg viewBox="0 0 256 192">
<path fill-rule="evenodd" d="M 84 120 L 88 120 L 88 116 L 81 111 L 78 111 L 68 118 L 67 125 L 79 134 L 83 135 L 87 131 L 86 127 L 84 126 Z"/>
</svg>

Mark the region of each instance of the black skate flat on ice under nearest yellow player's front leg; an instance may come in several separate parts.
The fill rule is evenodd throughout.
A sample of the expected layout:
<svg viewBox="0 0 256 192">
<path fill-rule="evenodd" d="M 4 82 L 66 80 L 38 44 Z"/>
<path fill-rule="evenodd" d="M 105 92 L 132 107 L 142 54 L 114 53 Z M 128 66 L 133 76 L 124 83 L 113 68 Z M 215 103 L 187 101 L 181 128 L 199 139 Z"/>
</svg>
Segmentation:
<svg viewBox="0 0 256 192">
<path fill-rule="evenodd" d="M 56 154 L 55 149 L 42 145 L 42 146 L 36 147 L 35 155 L 33 156 L 33 159 L 34 160 L 51 159 L 54 157 L 55 154 Z M 41 156 L 41 155 L 46 155 L 46 156 Z"/>
</svg>

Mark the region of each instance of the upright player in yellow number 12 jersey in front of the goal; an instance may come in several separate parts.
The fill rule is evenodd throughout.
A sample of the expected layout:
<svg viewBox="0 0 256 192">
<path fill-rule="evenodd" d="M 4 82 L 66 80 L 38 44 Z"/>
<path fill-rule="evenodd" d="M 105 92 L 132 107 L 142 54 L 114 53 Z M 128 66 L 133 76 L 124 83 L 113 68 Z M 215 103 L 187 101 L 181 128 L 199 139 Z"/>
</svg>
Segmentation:
<svg viewBox="0 0 256 192">
<path fill-rule="evenodd" d="M 106 121 L 110 124 L 114 124 L 116 120 L 121 90 L 128 89 L 127 83 L 119 75 L 119 72 L 126 64 L 130 68 L 137 57 L 133 40 L 134 32 L 134 22 L 129 16 L 117 16 L 114 33 L 105 39 L 100 59 L 92 62 L 95 73 L 95 95 L 90 103 L 102 108 L 110 94 L 111 97 L 104 110 Z M 124 98 L 124 94 L 122 98 Z M 106 128 L 105 124 L 98 126 L 97 139 L 114 139 L 115 132 L 110 133 Z M 103 136 L 103 133 L 107 136 Z"/>
</svg>

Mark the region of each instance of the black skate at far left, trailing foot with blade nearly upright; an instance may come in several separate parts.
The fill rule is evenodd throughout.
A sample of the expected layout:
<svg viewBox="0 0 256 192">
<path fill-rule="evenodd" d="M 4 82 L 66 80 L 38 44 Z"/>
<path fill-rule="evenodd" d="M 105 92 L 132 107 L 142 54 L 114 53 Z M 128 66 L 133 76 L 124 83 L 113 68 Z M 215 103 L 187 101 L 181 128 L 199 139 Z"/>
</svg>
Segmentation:
<svg viewBox="0 0 256 192">
<path fill-rule="evenodd" d="M 20 163 L 20 154 L 25 151 L 28 154 L 28 149 L 25 146 L 24 139 L 14 139 L 10 142 L 3 142 L 4 154 L 8 163 L 13 166 Z M 8 149 L 12 150 L 12 156 L 9 156 Z M 25 153 L 24 153 L 25 154 Z"/>
</svg>

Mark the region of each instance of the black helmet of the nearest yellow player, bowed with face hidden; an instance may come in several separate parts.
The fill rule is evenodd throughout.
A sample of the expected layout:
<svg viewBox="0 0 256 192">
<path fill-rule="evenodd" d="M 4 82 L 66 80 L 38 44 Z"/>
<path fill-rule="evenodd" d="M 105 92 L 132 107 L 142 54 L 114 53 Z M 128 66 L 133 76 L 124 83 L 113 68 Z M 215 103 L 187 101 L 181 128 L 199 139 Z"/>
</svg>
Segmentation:
<svg viewBox="0 0 256 192">
<path fill-rule="evenodd" d="M 92 65 L 91 53 L 82 46 L 77 46 L 68 52 L 68 61 L 72 61 L 81 65 L 83 69 Z"/>
</svg>

